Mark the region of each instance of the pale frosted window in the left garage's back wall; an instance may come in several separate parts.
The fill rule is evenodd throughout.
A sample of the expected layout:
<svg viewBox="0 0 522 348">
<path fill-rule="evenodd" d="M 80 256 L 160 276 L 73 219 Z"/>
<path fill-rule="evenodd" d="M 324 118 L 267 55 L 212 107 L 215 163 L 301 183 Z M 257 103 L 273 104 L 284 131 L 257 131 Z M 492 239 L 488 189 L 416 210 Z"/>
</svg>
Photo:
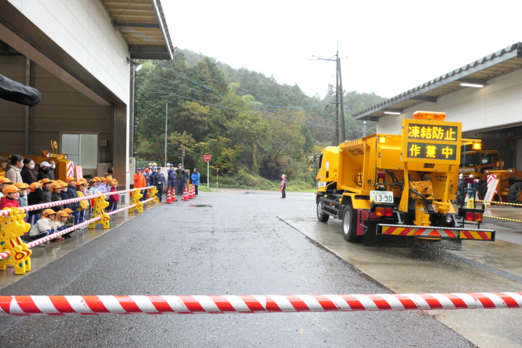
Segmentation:
<svg viewBox="0 0 522 348">
<path fill-rule="evenodd" d="M 84 169 L 98 166 L 98 134 L 62 133 L 62 153 Z"/>
</svg>

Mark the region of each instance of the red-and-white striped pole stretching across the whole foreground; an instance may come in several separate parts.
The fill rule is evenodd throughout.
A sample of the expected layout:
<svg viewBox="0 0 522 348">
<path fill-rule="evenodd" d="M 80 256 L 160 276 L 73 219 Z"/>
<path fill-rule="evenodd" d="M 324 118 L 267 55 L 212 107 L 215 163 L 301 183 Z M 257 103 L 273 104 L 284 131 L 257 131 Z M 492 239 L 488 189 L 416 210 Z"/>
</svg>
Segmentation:
<svg viewBox="0 0 522 348">
<path fill-rule="evenodd" d="M 4 315 L 226 314 L 521 308 L 522 292 L 375 295 L 0 296 Z"/>
</svg>

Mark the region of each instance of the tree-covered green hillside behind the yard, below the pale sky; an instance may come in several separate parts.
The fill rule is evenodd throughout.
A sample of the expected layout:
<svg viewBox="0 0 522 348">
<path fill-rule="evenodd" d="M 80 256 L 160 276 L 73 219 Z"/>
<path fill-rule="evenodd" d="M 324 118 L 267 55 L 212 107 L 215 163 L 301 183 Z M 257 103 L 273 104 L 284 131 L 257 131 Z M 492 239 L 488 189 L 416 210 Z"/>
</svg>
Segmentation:
<svg viewBox="0 0 522 348">
<path fill-rule="evenodd" d="M 269 186 L 282 173 L 289 182 L 313 183 L 307 155 L 333 145 L 333 95 L 309 97 L 299 86 L 281 85 L 246 68 L 233 69 L 192 51 L 175 50 L 173 61 L 147 61 L 139 71 L 138 161 L 163 163 L 168 101 L 168 161 L 197 167 L 206 181 L 203 154 L 219 164 L 220 183 Z M 345 92 L 347 130 L 362 123 L 349 115 L 384 98 Z M 367 125 L 372 133 L 375 125 Z M 347 131 L 349 138 L 358 133 Z M 211 171 L 215 173 L 215 171 Z M 214 180 L 211 173 L 211 180 Z"/>
</svg>

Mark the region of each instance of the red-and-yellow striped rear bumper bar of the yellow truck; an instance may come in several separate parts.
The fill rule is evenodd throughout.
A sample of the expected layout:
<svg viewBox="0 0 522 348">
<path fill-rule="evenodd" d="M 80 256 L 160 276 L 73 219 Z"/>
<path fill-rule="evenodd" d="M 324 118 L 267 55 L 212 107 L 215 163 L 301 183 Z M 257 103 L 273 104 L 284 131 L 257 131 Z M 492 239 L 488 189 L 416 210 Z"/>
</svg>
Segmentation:
<svg viewBox="0 0 522 348">
<path fill-rule="evenodd" d="M 475 241 L 495 241 L 495 231 L 493 230 L 464 229 L 458 227 L 378 224 L 377 234 L 436 239 L 473 239 Z"/>
</svg>

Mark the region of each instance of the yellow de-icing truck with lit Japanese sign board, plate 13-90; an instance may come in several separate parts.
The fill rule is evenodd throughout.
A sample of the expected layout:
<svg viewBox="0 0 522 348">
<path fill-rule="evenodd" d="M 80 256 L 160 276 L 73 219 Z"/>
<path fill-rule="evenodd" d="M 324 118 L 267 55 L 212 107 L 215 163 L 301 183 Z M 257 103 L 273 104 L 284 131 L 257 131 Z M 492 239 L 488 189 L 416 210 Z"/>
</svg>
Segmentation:
<svg viewBox="0 0 522 348">
<path fill-rule="evenodd" d="M 480 229 L 483 206 L 455 211 L 451 203 L 461 123 L 445 117 L 418 111 L 402 121 L 400 135 L 373 134 L 323 149 L 313 158 L 317 219 L 341 219 L 348 242 L 441 242 L 459 249 L 462 239 L 494 241 L 495 231 Z"/>
</svg>

